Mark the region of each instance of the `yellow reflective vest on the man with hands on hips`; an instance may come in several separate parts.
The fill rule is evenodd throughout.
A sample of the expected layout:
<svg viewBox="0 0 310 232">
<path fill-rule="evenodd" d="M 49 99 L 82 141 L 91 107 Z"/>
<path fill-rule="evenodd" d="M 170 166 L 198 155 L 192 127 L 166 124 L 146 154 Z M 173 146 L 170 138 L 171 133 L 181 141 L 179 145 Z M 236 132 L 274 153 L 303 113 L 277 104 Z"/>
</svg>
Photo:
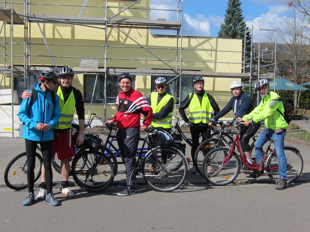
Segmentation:
<svg viewBox="0 0 310 232">
<path fill-rule="evenodd" d="M 209 123 L 209 119 L 212 117 L 213 108 L 207 94 L 204 93 L 201 104 L 197 94 L 190 93 L 189 98 L 191 97 L 192 94 L 194 94 L 194 96 L 191 102 L 189 103 L 190 112 L 188 120 L 196 124 L 199 122 Z"/>
</svg>

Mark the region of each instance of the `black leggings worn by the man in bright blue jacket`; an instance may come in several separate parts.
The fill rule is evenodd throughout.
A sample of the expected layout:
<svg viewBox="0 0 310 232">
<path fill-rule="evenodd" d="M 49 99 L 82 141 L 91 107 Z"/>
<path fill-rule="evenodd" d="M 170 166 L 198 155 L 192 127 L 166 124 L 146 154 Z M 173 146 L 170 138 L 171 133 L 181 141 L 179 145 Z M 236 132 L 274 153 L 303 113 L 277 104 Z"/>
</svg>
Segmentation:
<svg viewBox="0 0 310 232">
<path fill-rule="evenodd" d="M 38 142 L 32 140 L 26 140 L 26 155 L 27 155 L 27 181 L 28 181 L 28 191 L 34 192 L 34 166 L 35 166 L 35 152 L 37 150 L 37 144 L 40 144 L 42 155 L 43 155 L 43 165 L 45 168 L 45 179 L 46 179 L 46 190 L 47 194 L 52 193 L 52 183 L 53 183 L 53 173 L 51 167 L 51 154 L 52 154 L 52 144 L 53 140 Z"/>
</svg>

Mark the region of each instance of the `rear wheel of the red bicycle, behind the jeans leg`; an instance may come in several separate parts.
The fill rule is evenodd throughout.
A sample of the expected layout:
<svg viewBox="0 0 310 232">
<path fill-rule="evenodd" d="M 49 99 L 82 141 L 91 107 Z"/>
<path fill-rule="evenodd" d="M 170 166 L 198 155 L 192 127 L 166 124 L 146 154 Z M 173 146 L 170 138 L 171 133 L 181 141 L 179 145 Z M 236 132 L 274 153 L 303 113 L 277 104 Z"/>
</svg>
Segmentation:
<svg viewBox="0 0 310 232">
<path fill-rule="evenodd" d="M 297 180 L 303 170 L 303 158 L 299 151 L 293 147 L 284 146 L 284 154 L 286 156 L 286 168 L 287 168 L 287 183 L 292 183 Z M 276 183 L 279 179 L 279 170 L 269 170 L 271 167 L 279 166 L 277 157 L 272 154 L 267 162 L 267 172 L 269 178 Z"/>
</svg>

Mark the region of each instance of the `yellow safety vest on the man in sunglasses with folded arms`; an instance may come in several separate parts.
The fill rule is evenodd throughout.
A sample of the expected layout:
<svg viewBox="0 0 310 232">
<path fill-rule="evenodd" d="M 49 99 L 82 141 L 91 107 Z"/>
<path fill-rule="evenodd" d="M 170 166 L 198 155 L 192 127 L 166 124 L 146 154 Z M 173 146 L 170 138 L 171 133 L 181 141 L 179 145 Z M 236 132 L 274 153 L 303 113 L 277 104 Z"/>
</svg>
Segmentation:
<svg viewBox="0 0 310 232">
<path fill-rule="evenodd" d="M 157 105 L 158 100 L 158 92 L 151 93 L 151 107 L 153 110 L 153 113 L 157 113 L 162 110 L 162 107 L 164 107 L 168 101 L 171 99 L 171 95 L 167 93 L 159 102 Z M 175 98 L 173 98 L 173 105 L 175 104 Z M 173 110 L 172 110 L 173 111 Z M 161 119 L 153 119 L 152 120 L 152 126 L 153 127 L 163 127 L 163 128 L 171 128 L 172 127 L 172 112 L 170 112 L 165 118 Z"/>
</svg>

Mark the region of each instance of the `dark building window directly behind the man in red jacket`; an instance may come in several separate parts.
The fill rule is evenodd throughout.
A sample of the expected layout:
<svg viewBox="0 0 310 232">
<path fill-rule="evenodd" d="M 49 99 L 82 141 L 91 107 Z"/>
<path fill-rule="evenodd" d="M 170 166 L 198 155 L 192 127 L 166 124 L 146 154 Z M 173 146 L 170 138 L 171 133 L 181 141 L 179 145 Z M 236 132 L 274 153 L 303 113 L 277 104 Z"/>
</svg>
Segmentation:
<svg viewBox="0 0 310 232">
<path fill-rule="evenodd" d="M 91 95 L 94 88 L 96 75 L 84 75 L 84 102 L 91 103 Z M 107 75 L 106 103 L 115 104 L 116 97 L 121 91 L 119 86 L 118 75 Z M 132 76 L 132 87 L 135 86 L 135 76 Z M 97 84 L 95 87 L 93 103 L 104 103 L 104 75 L 98 75 Z"/>
</svg>

